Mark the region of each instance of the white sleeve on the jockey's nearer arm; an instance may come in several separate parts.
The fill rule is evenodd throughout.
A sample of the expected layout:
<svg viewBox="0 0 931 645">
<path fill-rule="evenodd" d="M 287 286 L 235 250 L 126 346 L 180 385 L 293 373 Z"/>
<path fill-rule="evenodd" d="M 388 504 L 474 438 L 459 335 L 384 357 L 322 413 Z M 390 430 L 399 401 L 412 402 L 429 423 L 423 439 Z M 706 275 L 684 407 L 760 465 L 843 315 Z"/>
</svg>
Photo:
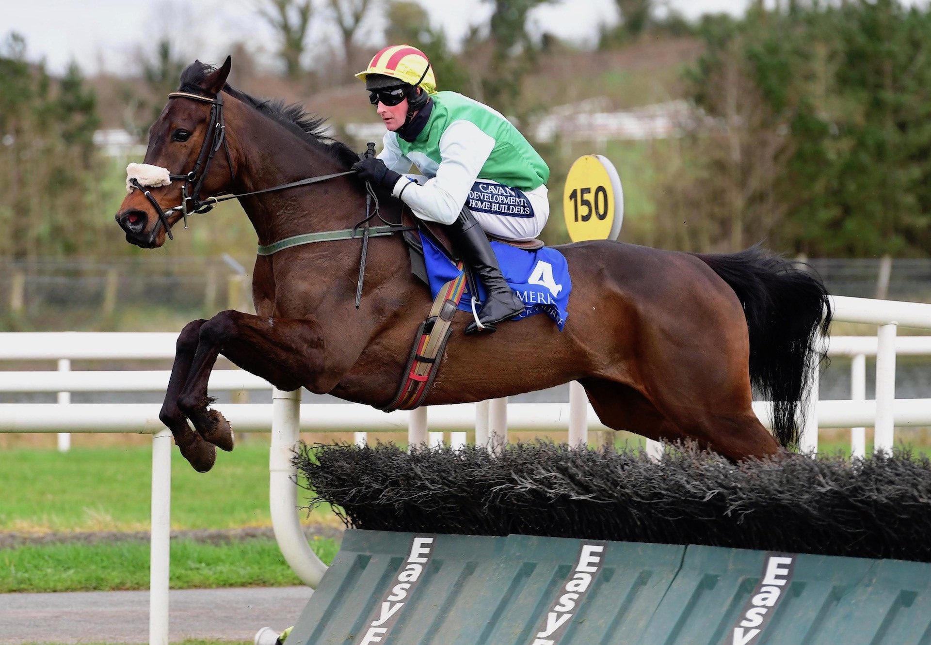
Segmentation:
<svg viewBox="0 0 931 645">
<path fill-rule="evenodd" d="M 452 224 L 466 204 L 472 184 L 492 154 L 494 139 L 470 121 L 453 121 L 439 138 L 437 176 L 421 186 L 402 177 L 393 195 L 401 199 L 424 220 Z"/>
</svg>

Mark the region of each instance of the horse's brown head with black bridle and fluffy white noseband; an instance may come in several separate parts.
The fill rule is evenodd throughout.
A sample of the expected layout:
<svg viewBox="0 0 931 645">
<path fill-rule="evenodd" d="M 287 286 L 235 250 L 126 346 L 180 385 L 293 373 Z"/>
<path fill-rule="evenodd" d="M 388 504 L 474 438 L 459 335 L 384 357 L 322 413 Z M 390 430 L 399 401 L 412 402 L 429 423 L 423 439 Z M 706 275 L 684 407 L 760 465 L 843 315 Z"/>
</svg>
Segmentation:
<svg viewBox="0 0 931 645">
<path fill-rule="evenodd" d="M 182 76 L 183 91 L 169 94 L 149 128 L 145 163 L 127 168 L 130 192 L 116 213 L 130 244 L 162 246 L 175 222 L 209 207 L 208 195 L 230 190 L 233 161 L 225 141 L 222 93 L 230 67 L 227 57 L 193 87 Z"/>
</svg>

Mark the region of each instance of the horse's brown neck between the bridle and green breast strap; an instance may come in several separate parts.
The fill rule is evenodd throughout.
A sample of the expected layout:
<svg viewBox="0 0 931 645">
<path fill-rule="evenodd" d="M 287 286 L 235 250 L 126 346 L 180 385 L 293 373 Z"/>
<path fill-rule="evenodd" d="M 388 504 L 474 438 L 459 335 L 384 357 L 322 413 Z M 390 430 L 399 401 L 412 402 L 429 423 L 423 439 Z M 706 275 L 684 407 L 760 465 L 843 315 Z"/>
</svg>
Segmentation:
<svg viewBox="0 0 931 645">
<path fill-rule="evenodd" d="M 252 118 L 262 118 L 252 115 Z M 263 119 L 263 135 L 237 141 L 237 192 L 270 188 L 290 181 L 344 171 L 341 164 L 286 128 Z M 247 126 L 250 128 L 250 126 Z M 267 134 L 266 134 L 267 133 Z M 332 195 L 338 195 L 334 199 Z M 259 237 L 267 245 L 291 235 L 349 228 L 363 217 L 365 193 L 351 178 L 240 199 Z"/>
</svg>

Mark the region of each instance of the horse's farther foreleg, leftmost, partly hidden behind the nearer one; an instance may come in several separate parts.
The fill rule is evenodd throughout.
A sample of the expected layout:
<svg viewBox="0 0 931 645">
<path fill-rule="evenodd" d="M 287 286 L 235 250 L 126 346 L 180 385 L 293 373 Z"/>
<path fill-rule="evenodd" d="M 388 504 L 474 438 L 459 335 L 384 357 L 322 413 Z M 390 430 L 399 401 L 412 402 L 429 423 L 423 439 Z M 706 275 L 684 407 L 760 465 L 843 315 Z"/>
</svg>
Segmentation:
<svg viewBox="0 0 931 645">
<path fill-rule="evenodd" d="M 217 458 L 217 450 L 187 424 L 187 419 L 178 409 L 178 396 L 181 394 L 184 383 L 187 382 L 191 362 L 194 360 L 197 349 L 200 328 L 205 322 L 207 321 L 194 320 L 188 323 L 179 334 L 174 364 L 171 366 L 169 387 L 165 393 L 162 410 L 158 413 L 158 418 L 168 426 L 184 459 L 201 473 L 206 473 L 213 467 Z"/>
</svg>

